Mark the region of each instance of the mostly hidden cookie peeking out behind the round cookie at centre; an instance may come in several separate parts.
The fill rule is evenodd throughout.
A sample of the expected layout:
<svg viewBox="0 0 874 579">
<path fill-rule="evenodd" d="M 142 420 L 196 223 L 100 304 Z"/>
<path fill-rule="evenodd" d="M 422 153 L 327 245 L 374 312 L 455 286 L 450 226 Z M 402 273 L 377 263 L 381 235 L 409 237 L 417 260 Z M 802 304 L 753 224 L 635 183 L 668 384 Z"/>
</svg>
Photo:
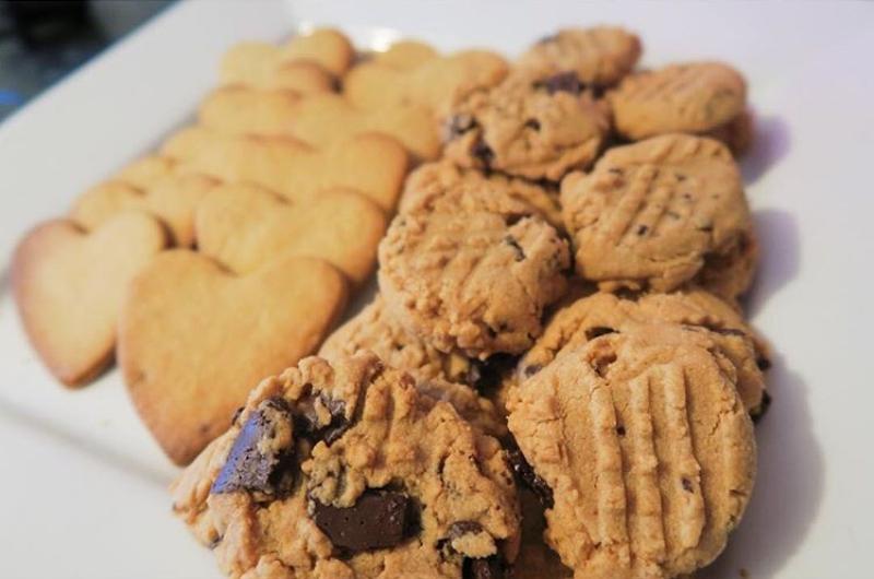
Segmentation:
<svg viewBox="0 0 874 579">
<path fill-rule="evenodd" d="M 536 215 L 556 229 L 565 227 L 555 188 L 507 177 L 499 173 L 486 174 L 476 169 L 464 169 L 448 161 L 427 163 L 411 173 L 404 185 L 399 210 L 409 211 L 420 201 L 427 203 L 434 196 L 457 187 L 500 189 L 512 199 L 528 204 Z"/>
</svg>

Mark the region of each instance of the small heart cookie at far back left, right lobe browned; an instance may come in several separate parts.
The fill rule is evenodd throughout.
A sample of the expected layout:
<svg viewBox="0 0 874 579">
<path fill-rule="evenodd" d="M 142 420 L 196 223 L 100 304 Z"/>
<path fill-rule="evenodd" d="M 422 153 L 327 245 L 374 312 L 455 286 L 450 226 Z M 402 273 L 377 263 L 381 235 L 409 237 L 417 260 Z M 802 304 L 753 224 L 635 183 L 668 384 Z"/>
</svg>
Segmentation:
<svg viewBox="0 0 874 579">
<path fill-rule="evenodd" d="M 270 43 L 244 42 L 222 57 L 218 82 L 224 86 L 251 86 L 296 94 L 327 93 L 336 79 L 318 62 L 288 60 L 280 47 Z"/>
</svg>

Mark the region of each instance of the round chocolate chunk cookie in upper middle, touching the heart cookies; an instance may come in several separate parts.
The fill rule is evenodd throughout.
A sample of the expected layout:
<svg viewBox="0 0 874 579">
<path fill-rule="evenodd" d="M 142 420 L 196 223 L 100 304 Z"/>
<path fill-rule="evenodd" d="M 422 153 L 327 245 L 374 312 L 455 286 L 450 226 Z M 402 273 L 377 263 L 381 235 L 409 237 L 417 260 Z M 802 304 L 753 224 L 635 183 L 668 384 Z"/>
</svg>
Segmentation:
<svg viewBox="0 0 874 579">
<path fill-rule="evenodd" d="M 446 156 L 464 167 L 557 181 L 587 168 L 609 130 L 606 110 L 576 73 L 543 80 L 512 74 L 452 107 Z"/>
</svg>

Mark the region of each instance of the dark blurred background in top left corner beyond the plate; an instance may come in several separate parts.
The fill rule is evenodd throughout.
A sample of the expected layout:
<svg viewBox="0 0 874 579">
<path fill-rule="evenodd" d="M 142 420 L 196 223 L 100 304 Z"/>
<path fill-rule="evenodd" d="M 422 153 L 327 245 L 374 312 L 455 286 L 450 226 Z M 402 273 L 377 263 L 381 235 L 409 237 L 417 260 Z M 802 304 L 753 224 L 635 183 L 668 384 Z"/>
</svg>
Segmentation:
<svg viewBox="0 0 874 579">
<path fill-rule="evenodd" d="M 0 121 L 175 0 L 0 0 Z"/>
</svg>

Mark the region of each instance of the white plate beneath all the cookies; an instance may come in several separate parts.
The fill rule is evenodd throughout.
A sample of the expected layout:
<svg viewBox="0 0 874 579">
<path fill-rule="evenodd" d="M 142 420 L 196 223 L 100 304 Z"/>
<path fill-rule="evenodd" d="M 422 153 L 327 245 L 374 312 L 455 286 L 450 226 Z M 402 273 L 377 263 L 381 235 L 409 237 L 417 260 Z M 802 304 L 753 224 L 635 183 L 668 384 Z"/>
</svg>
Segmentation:
<svg viewBox="0 0 874 579">
<path fill-rule="evenodd" d="M 184 3 L 0 126 L 0 575 L 218 576 L 170 516 L 176 470 L 118 374 L 70 392 L 35 358 L 8 256 L 33 223 L 189 118 L 231 44 L 312 22 L 361 46 L 410 35 L 508 54 L 559 25 L 619 23 L 642 35 L 646 63 L 713 57 L 743 70 L 759 118 L 743 169 L 764 247 L 749 305 L 777 353 L 775 403 L 753 503 L 706 576 L 870 577 L 872 7 L 403 0 Z"/>
</svg>

